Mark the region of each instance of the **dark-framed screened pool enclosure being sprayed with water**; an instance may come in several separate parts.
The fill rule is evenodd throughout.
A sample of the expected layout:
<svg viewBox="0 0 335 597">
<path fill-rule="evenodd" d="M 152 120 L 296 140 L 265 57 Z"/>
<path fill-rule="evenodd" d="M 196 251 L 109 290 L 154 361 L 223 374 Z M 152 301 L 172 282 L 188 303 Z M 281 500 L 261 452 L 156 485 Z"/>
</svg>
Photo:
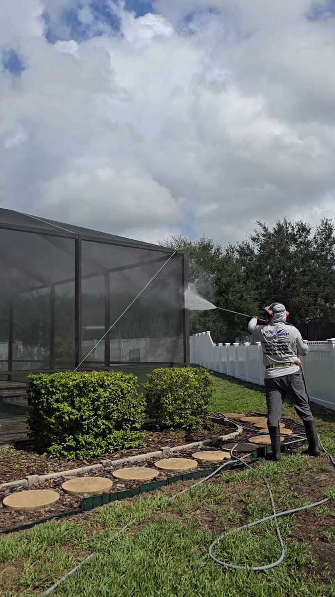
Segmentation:
<svg viewBox="0 0 335 597">
<path fill-rule="evenodd" d="M 0 381 L 189 363 L 187 256 L 0 210 Z M 88 355 L 157 271 L 165 266 Z"/>
</svg>

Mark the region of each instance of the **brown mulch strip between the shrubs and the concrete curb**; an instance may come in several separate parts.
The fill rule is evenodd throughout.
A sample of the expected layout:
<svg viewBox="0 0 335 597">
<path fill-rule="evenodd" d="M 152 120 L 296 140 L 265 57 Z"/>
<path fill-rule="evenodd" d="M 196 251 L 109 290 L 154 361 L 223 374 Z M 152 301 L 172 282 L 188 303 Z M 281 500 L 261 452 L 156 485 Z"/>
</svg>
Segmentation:
<svg viewBox="0 0 335 597">
<path fill-rule="evenodd" d="M 80 466 L 97 464 L 104 459 L 116 460 L 128 456 L 137 456 L 138 454 L 155 452 L 164 446 L 173 448 L 178 445 L 210 439 L 212 435 L 228 435 L 234 431 L 236 431 L 236 427 L 233 425 L 225 426 L 216 423 L 212 423 L 209 429 L 193 433 L 185 432 L 183 429 L 165 429 L 162 431 L 147 429 L 144 431 L 142 445 L 138 448 L 120 450 L 113 454 L 100 454 L 97 458 L 87 458 L 87 460 L 49 458 L 46 454 L 39 454 L 36 451 L 36 445 L 28 444 L 20 450 L 15 450 L 15 454 L 0 451 L 0 483 L 23 479 L 27 475 L 45 475 L 61 470 L 77 469 Z"/>
</svg>

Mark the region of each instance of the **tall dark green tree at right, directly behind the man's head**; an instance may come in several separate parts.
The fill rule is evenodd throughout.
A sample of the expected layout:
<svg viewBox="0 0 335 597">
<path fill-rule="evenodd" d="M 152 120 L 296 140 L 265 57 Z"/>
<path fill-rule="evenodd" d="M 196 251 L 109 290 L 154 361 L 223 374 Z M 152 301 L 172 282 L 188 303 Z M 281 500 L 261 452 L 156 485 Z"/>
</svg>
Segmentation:
<svg viewBox="0 0 335 597">
<path fill-rule="evenodd" d="M 334 321 L 335 227 L 322 219 L 313 232 L 303 221 L 278 220 L 258 228 L 237 245 L 245 283 L 251 281 L 259 303 L 278 300 L 297 327 L 314 318 Z"/>
</svg>

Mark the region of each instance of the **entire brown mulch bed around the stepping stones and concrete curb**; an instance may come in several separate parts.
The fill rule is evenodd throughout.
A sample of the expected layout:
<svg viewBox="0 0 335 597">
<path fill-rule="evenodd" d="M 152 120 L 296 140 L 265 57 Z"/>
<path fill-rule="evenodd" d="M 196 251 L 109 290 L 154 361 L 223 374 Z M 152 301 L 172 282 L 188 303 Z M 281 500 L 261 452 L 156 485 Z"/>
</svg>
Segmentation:
<svg viewBox="0 0 335 597">
<path fill-rule="evenodd" d="M 255 413 L 250 413 L 250 415 L 252 414 Z M 243 421 L 238 420 L 236 420 L 235 422 L 237 424 L 240 423 L 244 426 L 250 427 L 251 431 L 243 430 L 243 432 L 240 435 L 238 435 L 235 439 L 230 439 L 224 443 L 231 443 L 235 441 L 240 442 L 242 440 L 246 440 L 250 436 L 256 435 L 259 431 L 255 427 L 253 428 L 251 424 L 243 423 Z M 289 420 L 286 421 L 285 419 L 283 419 L 283 422 L 287 422 L 287 427 L 293 430 L 293 433 L 301 433 L 302 427 L 298 424 L 294 424 L 292 421 Z M 132 450 L 123 450 L 114 454 L 101 454 L 101 456 L 97 458 L 91 458 L 88 460 L 48 458 L 45 454 L 36 453 L 36 447 L 34 447 L 33 445 L 29 445 L 26 446 L 24 450 L 15 451 L 14 456 L 12 456 L 11 454 L 0 452 L 1 477 L 4 477 L 4 480 L 2 482 L 13 481 L 14 479 L 21 479 L 24 478 L 24 476 L 26 475 L 43 475 L 48 472 L 58 472 L 61 470 L 76 469 L 80 466 L 87 466 L 89 464 L 98 463 L 100 462 L 100 460 L 103 460 L 103 458 L 108 458 L 113 461 L 117 458 L 135 456 L 137 454 L 144 454 L 147 452 L 156 451 L 159 450 L 159 448 L 162 448 L 163 446 L 174 447 L 176 445 L 183 445 L 191 442 L 201 441 L 203 439 L 209 439 L 211 435 L 228 435 L 229 433 L 234 432 L 235 430 L 235 426 L 219 425 L 216 423 L 212 423 L 210 429 L 202 430 L 201 432 L 193 433 L 192 435 L 187 435 L 183 430 L 146 430 L 144 432 L 144 445 L 142 445 L 141 447 L 134 448 Z M 289 440 L 290 438 L 287 438 L 287 441 Z M 173 452 L 168 457 L 191 457 L 191 454 L 194 451 L 210 449 L 213 449 L 213 447 L 211 445 L 206 445 L 204 447 L 192 448 L 191 450 Z M 215 447 L 214 449 L 217 448 Z M 239 454 L 239 456 L 243 456 L 243 453 Z M 160 460 L 160 458 L 150 458 L 146 461 L 125 464 L 123 466 L 148 466 L 154 468 L 154 463 L 157 460 Z M 208 461 L 197 462 L 198 466 L 196 470 L 209 469 L 210 467 L 215 466 L 216 464 Z M 119 469 L 121 467 L 122 466 L 116 465 L 115 469 Z M 96 471 L 88 471 L 80 476 L 104 476 L 107 478 L 111 478 L 113 479 L 113 487 L 111 488 L 111 491 L 125 491 L 131 488 L 138 487 L 138 485 L 142 484 L 142 481 L 119 481 L 113 477 L 113 470 L 114 469 L 112 466 L 111 468 L 103 468 Z M 183 472 L 186 473 L 190 471 Z M 166 479 L 175 475 L 178 475 L 178 471 L 160 471 L 157 479 Z M 70 496 L 68 494 L 63 493 L 63 491 L 61 490 L 61 484 L 63 484 L 64 481 L 73 478 L 75 478 L 75 476 L 61 476 L 57 479 L 50 479 L 49 481 L 45 481 L 44 483 L 41 483 L 38 486 L 34 487 L 36 489 L 52 489 L 60 493 L 60 499 L 56 504 L 54 504 L 54 506 L 49 507 L 40 512 L 9 512 L 8 510 L 5 510 L 2 506 L 2 499 L 8 494 L 14 493 L 14 490 L 8 489 L 6 491 L 0 492 L 0 531 L 7 530 L 8 528 L 13 528 L 22 524 L 27 524 L 29 522 L 35 522 L 40 520 L 41 518 L 46 518 L 48 516 L 55 516 L 61 512 L 68 512 L 69 510 L 79 509 L 82 497 L 88 496 Z M 26 490 L 27 488 L 22 488 L 15 491 Z"/>
</svg>

